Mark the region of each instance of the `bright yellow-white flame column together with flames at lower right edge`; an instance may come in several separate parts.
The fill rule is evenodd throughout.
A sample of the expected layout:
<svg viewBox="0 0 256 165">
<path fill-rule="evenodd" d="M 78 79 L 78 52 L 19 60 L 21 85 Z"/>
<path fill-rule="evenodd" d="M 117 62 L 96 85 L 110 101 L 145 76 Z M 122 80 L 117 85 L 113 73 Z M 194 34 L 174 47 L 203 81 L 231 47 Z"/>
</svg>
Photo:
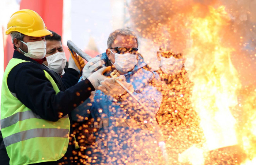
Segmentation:
<svg viewBox="0 0 256 165">
<path fill-rule="evenodd" d="M 251 89 L 247 87 L 244 93 L 238 93 L 241 83 L 230 60 L 237 50 L 223 46 L 225 36 L 222 31 L 229 27 L 230 16 L 223 6 L 217 9 L 210 7 L 209 11 L 204 18 L 192 17 L 193 44 L 186 50 L 187 57 L 193 58 L 196 66 L 190 74 L 194 83 L 192 103 L 200 116 L 209 150 L 242 145 L 246 154 L 243 165 L 255 164 L 256 91 L 252 86 Z M 238 103 L 238 97 L 242 97 L 243 101 Z M 238 105 L 244 113 L 240 124 L 237 120 L 241 118 L 233 117 L 233 110 Z"/>
</svg>

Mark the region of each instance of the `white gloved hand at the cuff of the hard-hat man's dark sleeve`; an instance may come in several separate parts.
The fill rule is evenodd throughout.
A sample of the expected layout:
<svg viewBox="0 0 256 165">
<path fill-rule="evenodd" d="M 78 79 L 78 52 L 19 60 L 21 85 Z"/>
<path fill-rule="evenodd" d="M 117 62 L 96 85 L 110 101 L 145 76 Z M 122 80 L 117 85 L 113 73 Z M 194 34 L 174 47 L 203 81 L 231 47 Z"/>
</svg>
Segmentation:
<svg viewBox="0 0 256 165">
<path fill-rule="evenodd" d="M 89 79 L 89 81 L 91 82 L 91 84 L 95 89 L 98 89 L 100 82 L 108 78 L 103 75 L 104 72 L 110 71 L 110 70 L 111 70 L 111 66 L 100 68 L 99 70 L 93 72 L 87 79 Z"/>
</svg>

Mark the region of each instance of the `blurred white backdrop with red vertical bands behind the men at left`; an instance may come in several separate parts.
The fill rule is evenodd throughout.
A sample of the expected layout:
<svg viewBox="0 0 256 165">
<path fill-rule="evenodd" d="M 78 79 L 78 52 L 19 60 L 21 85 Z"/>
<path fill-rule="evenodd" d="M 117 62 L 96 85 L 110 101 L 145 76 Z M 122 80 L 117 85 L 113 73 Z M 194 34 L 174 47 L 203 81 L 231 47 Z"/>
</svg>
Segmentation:
<svg viewBox="0 0 256 165">
<path fill-rule="evenodd" d="M 96 56 L 105 52 L 110 32 L 125 24 L 123 0 L 3 0 L 1 1 L 1 55 L 4 48 L 4 68 L 12 58 L 10 36 L 5 35 L 6 25 L 12 13 L 20 9 L 32 9 L 44 20 L 48 30 L 63 38 L 67 59 L 67 40 Z M 3 56 L 1 56 L 3 59 Z"/>
</svg>

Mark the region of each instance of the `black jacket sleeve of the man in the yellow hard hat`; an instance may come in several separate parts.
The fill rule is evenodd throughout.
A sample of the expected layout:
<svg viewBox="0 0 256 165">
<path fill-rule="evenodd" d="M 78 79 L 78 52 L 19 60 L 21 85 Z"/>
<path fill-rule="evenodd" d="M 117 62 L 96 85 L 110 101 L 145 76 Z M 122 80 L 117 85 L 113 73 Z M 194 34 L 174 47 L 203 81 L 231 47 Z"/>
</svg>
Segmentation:
<svg viewBox="0 0 256 165">
<path fill-rule="evenodd" d="M 57 121 L 70 113 L 95 90 L 86 79 L 56 94 L 44 71 L 31 62 L 15 66 L 8 75 L 7 84 L 25 106 L 49 121 Z"/>
</svg>

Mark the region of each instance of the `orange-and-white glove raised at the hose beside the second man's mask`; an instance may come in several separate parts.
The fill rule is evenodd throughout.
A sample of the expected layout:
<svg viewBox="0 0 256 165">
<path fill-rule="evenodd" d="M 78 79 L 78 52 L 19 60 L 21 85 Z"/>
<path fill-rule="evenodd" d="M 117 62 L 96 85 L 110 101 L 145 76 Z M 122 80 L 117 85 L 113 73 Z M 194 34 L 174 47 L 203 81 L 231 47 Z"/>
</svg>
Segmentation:
<svg viewBox="0 0 256 165">
<path fill-rule="evenodd" d="M 79 57 L 76 55 L 76 52 L 70 49 L 68 50 L 69 50 L 68 67 L 73 68 L 80 73 L 83 70 L 83 67 L 81 66 L 81 64 L 84 64 L 83 59 L 79 56 L 80 57 L 80 60 L 79 60 Z"/>
</svg>

